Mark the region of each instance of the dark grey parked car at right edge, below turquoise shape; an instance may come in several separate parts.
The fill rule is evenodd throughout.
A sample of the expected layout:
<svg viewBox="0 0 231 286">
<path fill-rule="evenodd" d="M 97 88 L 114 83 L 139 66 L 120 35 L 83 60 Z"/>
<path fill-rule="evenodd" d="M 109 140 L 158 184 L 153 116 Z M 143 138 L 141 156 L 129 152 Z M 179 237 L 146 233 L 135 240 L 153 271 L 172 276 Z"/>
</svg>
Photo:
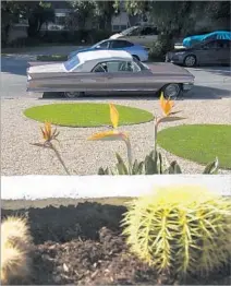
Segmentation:
<svg viewBox="0 0 231 286">
<path fill-rule="evenodd" d="M 231 40 L 215 39 L 199 43 L 191 48 L 182 48 L 166 55 L 166 61 L 195 67 L 202 64 L 230 64 Z"/>
</svg>

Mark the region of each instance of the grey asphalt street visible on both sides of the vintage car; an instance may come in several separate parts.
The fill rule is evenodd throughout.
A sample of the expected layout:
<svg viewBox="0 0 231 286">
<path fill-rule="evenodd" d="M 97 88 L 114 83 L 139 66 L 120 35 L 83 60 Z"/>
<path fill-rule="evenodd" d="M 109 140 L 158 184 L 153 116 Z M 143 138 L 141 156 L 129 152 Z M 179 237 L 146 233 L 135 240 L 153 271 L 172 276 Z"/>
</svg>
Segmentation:
<svg viewBox="0 0 231 286">
<path fill-rule="evenodd" d="M 1 98 L 41 97 L 41 94 L 26 93 L 26 68 L 35 55 L 7 55 L 1 57 Z M 209 67 L 187 69 L 195 75 L 194 88 L 186 98 L 231 97 L 230 67 Z"/>
</svg>

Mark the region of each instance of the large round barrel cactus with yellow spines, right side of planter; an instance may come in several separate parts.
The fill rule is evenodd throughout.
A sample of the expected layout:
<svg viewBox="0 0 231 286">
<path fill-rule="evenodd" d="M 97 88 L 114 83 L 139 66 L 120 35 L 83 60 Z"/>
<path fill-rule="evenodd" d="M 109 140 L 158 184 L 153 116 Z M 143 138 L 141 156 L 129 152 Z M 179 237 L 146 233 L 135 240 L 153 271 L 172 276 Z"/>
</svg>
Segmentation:
<svg viewBox="0 0 231 286">
<path fill-rule="evenodd" d="M 163 188 L 127 204 L 126 242 L 160 274 L 208 275 L 231 257 L 231 201 L 209 190 Z"/>
</svg>

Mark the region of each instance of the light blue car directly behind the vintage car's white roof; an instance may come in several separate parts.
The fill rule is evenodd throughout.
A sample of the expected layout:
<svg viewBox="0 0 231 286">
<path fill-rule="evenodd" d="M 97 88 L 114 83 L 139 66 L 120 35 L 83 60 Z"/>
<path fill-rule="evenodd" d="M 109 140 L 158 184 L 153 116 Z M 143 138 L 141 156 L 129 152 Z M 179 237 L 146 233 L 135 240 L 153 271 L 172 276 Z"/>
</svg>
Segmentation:
<svg viewBox="0 0 231 286">
<path fill-rule="evenodd" d="M 148 49 L 147 48 L 141 45 L 133 44 L 129 40 L 124 40 L 124 39 L 104 39 L 89 48 L 72 51 L 69 55 L 69 59 L 73 58 L 74 56 L 76 56 L 78 52 L 82 52 L 82 51 L 100 50 L 100 49 L 125 50 L 139 61 L 148 60 Z"/>
</svg>

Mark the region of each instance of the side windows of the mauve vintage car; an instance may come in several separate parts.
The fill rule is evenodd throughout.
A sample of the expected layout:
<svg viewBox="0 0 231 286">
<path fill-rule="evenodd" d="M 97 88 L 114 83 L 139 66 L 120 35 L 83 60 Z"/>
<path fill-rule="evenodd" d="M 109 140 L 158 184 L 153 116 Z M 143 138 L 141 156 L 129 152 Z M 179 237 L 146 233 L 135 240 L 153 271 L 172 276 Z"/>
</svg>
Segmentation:
<svg viewBox="0 0 231 286">
<path fill-rule="evenodd" d="M 100 62 L 93 72 L 139 72 L 141 68 L 134 61 L 108 61 Z"/>
</svg>

